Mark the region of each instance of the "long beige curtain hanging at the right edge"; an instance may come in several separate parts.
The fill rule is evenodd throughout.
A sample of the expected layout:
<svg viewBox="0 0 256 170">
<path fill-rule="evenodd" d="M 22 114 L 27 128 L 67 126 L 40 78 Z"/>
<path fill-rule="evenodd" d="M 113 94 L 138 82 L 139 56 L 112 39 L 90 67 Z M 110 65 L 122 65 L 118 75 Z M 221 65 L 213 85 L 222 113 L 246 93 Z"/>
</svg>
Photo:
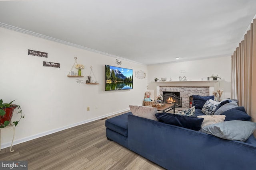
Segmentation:
<svg viewBox="0 0 256 170">
<path fill-rule="evenodd" d="M 231 56 L 232 60 L 232 93 L 231 97 L 244 106 L 252 121 L 256 122 L 256 19 L 244 40 Z"/>
</svg>

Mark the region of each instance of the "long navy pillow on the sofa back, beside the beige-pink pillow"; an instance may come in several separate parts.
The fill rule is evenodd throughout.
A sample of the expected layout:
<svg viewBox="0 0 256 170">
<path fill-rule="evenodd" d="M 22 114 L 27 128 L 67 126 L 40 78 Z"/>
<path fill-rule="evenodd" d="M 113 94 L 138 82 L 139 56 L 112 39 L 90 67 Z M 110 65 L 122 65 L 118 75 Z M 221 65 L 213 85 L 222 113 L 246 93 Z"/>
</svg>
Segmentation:
<svg viewBox="0 0 256 170">
<path fill-rule="evenodd" d="M 160 122 L 195 131 L 199 131 L 201 129 L 201 125 L 204 120 L 204 118 L 175 115 L 172 113 L 156 113 L 155 115 Z"/>
</svg>

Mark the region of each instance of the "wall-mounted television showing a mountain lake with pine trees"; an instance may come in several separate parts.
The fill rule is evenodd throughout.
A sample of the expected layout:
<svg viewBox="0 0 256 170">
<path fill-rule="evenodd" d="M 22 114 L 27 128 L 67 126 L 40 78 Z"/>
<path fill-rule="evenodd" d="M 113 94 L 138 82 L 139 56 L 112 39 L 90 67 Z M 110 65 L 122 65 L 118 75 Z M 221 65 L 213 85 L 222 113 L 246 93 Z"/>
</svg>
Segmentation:
<svg viewBox="0 0 256 170">
<path fill-rule="evenodd" d="M 133 70 L 105 65 L 105 91 L 132 89 Z"/>
</svg>

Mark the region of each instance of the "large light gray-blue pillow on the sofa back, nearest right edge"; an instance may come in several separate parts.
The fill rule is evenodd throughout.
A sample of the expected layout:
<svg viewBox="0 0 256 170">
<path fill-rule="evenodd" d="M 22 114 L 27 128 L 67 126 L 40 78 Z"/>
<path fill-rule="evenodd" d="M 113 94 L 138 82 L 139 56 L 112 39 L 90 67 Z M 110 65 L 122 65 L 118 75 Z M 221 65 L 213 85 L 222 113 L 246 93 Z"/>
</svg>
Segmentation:
<svg viewBox="0 0 256 170">
<path fill-rule="evenodd" d="M 256 129 L 256 122 L 231 120 L 202 128 L 202 132 L 228 140 L 246 141 Z"/>
</svg>

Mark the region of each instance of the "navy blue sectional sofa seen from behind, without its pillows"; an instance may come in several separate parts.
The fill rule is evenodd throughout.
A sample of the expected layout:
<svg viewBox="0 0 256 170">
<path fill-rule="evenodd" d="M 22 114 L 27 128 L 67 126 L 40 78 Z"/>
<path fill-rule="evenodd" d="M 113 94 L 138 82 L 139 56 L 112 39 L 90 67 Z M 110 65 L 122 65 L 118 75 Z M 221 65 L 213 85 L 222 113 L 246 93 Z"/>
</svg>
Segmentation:
<svg viewBox="0 0 256 170">
<path fill-rule="evenodd" d="M 255 170 L 256 139 L 226 140 L 138 117 L 131 112 L 106 119 L 108 140 L 168 170 Z"/>
</svg>

